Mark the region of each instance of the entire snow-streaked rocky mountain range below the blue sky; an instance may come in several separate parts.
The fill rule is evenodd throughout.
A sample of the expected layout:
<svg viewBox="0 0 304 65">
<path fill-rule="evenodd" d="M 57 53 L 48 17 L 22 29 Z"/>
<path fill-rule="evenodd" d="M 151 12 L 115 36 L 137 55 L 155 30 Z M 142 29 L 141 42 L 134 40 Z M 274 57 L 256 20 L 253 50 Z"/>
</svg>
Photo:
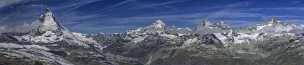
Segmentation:
<svg viewBox="0 0 304 65">
<path fill-rule="evenodd" d="M 123 33 L 68 31 L 50 9 L 29 32 L 0 34 L 0 65 L 301 65 L 304 25 L 273 17 L 233 28 L 204 20 L 195 28 L 152 25 Z"/>
</svg>

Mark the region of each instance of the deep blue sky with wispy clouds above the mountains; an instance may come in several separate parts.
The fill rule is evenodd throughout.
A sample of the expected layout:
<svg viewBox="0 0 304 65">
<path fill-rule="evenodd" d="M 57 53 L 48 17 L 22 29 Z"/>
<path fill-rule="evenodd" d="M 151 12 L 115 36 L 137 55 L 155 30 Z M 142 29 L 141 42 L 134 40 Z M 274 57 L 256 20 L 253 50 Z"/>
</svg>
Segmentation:
<svg viewBox="0 0 304 65">
<path fill-rule="evenodd" d="M 31 23 L 46 7 L 77 32 L 124 32 L 156 19 L 177 27 L 194 27 L 204 19 L 244 26 L 272 16 L 304 23 L 301 0 L 1 0 L 0 25 Z"/>
</svg>

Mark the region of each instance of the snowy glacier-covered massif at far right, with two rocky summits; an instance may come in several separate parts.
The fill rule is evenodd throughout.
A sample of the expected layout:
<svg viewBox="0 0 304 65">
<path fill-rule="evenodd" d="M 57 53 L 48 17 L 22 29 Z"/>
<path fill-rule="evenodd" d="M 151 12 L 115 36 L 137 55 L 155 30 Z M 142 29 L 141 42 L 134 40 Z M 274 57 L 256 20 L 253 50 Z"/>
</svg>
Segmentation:
<svg viewBox="0 0 304 65">
<path fill-rule="evenodd" d="M 230 29 L 229 26 L 210 26 L 208 21 L 204 21 L 201 25 L 198 25 L 198 32 L 205 34 L 212 34 L 221 41 L 225 47 L 234 44 L 242 43 L 256 43 L 265 39 L 271 39 L 281 36 L 294 37 L 297 33 L 294 31 L 302 31 L 302 26 L 295 24 L 287 24 L 279 22 L 275 17 L 270 22 L 260 24 L 253 27 L 251 31 L 236 31 Z M 242 29 L 240 29 L 242 30 Z M 203 31 L 203 32 L 202 32 Z"/>
</svg>

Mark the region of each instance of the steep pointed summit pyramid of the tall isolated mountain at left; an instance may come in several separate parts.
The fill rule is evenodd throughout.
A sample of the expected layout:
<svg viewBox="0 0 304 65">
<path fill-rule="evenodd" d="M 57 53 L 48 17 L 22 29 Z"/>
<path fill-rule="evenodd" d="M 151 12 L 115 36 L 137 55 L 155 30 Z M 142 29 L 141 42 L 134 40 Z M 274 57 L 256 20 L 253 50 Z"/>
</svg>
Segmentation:
<svg viewBox="0 0 304 65">
<path fill-rule="evenodd" d="M 51 9 L 46 8 L 44 13 L 39 19 L 39 26 L 36 28 L 36 32 L 44 33 L 46 31 L 61 32 L 63 27 L 56 21 Z"/>
</svg>

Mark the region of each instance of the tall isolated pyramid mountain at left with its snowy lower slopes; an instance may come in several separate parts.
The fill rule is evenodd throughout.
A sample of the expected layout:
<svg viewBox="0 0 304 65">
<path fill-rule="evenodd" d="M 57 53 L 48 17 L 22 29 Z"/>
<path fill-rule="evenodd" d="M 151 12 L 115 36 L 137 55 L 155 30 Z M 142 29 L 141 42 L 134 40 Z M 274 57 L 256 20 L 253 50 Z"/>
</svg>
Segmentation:
<svg viewBox="0 0 304 65">
<path fill-rule="evenodd" d="M 78 45 L 89 47 L 88 44 L 97 44 L 92 38 L 86 37 L 85 34 L 70 32 L 56 21 L 54 14 L 50 9 L 39 18 L 39 24 L 35 27 L 30 34 L 15 36 L 16 39 L 23 42 L 32 43 L 56 43 L 67 42 L 71 45 Z"/>
</svg>

